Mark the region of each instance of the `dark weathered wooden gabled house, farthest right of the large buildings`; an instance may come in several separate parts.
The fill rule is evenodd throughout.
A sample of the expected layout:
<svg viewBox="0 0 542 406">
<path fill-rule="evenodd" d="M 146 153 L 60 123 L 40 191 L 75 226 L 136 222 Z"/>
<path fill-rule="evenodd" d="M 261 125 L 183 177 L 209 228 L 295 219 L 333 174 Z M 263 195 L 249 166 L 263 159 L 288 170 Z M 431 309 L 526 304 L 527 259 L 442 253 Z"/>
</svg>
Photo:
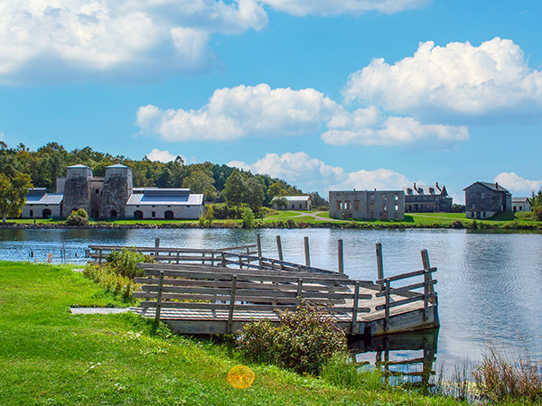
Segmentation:
<svg viewBox="0 0 542 406">
<path fill-rule="evenodd" d="M 467 218 L 489 218 L 502 211 L 512 211 L 512 195 L 497 182 L 474 182 L 463 190 Z"/>
</svg>

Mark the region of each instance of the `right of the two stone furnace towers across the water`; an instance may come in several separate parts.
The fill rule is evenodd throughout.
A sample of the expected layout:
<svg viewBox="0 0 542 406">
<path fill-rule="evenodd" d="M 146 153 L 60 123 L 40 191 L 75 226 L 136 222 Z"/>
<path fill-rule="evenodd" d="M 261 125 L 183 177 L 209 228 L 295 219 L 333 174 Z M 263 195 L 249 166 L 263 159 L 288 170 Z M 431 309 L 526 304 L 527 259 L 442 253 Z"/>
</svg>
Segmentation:
<svg viewBox="0 0 542 406">
<path fill-rule="evenodd" d="M 132 195 L 133 189 L 130 168 L 121 164 L 107 166 L 100 217 L 124 218 L 126 202 Z"/>
</svg>

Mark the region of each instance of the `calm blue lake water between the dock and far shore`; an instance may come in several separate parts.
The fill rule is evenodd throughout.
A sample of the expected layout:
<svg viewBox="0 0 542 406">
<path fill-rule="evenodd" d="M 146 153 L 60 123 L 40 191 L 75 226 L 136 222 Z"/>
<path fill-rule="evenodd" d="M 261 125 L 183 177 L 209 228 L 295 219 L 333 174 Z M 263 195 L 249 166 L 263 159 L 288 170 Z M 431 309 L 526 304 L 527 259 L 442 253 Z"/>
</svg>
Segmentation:
<svg viewBox="0 0 542 406">
<path fill-rule="evenodd" d="M 542 359 L 542 235 L 481 234 L 465 230 L 260 230 L 265 255 L 276 257 L 276 235 L 281 235 L 285 260 L 304 263 L 303 237 L 310 238 L 311 264 L 337 269 L 337 240 L 344 240 L 345 272 L 352 278 L 375 280 L 375 243 L 384 251 L 387 276 L 416 271 L 420 250 L 426 248 L 438 268 L 440 331 L 435 337 L 359 343 L 360 348 L 392 349 L 390 359 L 436 352 L 444 367 L 475 362 L 488 342 L 507 351 L 523 350 Z M 220 247 L 254 244 L 251 230 L 0 230 L 0 258 L 58 262 L 65 252 L 69 262 L 84 263 L 89 244 Z M 33 257 L 31 257 L 33 253 Z M 410 343 L 410 344 L 408 344 Z M 424 344 L 425 343 L 425 344 Z M 429 343 L 429 345 L 427 345 Z M 427 348 L 429 347 L 429 348 Z M 378 353 L 359 355 L 374 358 Z M 382 355 L 384 356 L 384 355 Z M 370 359 L 369 359 L 370 360 Z M 374 359 L 372 359 L 374 362 Z M 435 366 L 434 366 L 435 367 Z"/>
</svg>

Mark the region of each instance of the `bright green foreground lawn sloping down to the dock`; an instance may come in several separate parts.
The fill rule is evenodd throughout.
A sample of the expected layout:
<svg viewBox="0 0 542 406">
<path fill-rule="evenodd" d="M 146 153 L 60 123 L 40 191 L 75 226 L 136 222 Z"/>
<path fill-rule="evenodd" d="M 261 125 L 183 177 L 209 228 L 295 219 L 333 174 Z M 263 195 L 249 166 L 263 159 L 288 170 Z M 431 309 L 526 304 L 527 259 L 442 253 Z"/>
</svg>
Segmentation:
<svg viewBox="0 0 542 406">
<path fill-rule="evenodd" d="M 401 389 L 350 390 L 275 366 L 229 385 L 229 346 L 173 335 L 134 314 L 70 315 L 70 305 L 123 306 L 68 266 L 0 262 L 2 405 L 441 405 Z"/>
</svg>

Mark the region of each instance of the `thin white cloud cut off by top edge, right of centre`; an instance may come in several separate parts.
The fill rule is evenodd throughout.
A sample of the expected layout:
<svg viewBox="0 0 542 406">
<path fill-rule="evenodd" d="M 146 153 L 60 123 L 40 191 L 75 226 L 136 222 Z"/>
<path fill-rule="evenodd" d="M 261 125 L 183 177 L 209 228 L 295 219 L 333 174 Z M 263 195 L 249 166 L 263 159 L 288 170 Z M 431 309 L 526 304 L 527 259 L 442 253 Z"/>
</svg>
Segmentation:
<svg viewBox="0 0 542 406">
<path fill-rule="evenodd" d="M 294 15 L 359 15 L 369 11 L 393 14 L 428 5 L 431 0 L 262 0 L 276 10 Z"/>
</svg>

